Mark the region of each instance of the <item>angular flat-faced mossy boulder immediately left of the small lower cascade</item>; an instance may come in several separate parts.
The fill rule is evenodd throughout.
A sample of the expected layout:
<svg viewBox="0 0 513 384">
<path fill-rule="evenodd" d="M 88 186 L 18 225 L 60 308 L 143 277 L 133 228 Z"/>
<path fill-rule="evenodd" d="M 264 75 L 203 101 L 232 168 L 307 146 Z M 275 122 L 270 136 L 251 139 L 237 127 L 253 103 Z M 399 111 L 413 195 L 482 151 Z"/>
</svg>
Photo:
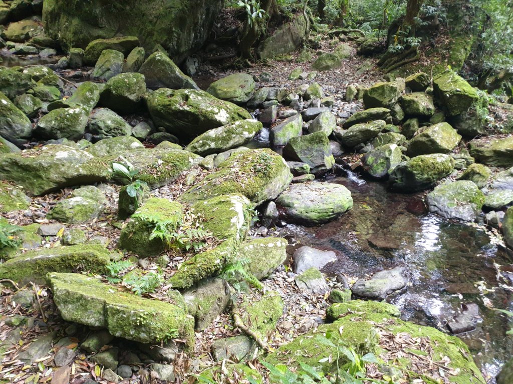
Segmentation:
<svg viewBox="0 0 513 384">
<path fill-rule="evenodd" d="M 335 164 L 329 139 L 321 131 L 291 138 L 283 148 L 283 156 L 308 164 L 313 174 L 325 173 Z"/>
</svg>

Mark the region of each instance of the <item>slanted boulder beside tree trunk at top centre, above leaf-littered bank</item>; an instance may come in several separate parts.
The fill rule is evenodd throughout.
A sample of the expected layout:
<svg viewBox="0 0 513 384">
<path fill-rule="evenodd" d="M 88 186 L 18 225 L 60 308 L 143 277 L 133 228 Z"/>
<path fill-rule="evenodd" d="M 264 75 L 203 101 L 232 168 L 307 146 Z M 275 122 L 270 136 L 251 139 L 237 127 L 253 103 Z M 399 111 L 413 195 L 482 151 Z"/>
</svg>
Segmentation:
<svg viewBox="0 0 513 384">
<path fill-rule="evenodd" d="M 285 23 L 261 42 L 257 48 L 258 56 L 266 59 L 295 51 L 304 41 L 309 29 L 309 20 L 302 14 L 295 15 L 289 23 Z"/>
</svg>

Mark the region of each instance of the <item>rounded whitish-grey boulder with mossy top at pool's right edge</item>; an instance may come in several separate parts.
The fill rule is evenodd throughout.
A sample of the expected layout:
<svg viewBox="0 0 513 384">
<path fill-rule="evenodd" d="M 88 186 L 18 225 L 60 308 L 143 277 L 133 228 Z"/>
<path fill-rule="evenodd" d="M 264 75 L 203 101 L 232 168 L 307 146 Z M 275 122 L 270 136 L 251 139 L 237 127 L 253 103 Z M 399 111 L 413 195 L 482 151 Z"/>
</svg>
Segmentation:
<svg viewBox="0 0 513 384">
<path fill-rule="evenodd" d="M 474 221 L 485 201 L 476 184 L 468 180 L 446 182 L 437 185 L 426 196 L 430 212 L 446 219 Z"/>
</svg>

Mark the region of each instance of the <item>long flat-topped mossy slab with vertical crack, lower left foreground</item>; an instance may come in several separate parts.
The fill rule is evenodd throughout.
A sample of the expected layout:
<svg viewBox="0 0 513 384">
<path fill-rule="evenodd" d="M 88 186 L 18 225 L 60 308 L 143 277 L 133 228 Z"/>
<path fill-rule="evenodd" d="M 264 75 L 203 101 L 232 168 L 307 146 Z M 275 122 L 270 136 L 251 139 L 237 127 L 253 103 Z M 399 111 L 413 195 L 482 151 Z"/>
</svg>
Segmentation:
<svg viewBox="0 0 513 384">
<path fill-rule="evenodd" d="M 66 321 L 107 328 L 113 336 L 140 343 L 179 338 L 193 347 L 194 320 L 174 304 L 115 291 L 77 273 L 50 273 L 48 284 Z"/>
</svg>

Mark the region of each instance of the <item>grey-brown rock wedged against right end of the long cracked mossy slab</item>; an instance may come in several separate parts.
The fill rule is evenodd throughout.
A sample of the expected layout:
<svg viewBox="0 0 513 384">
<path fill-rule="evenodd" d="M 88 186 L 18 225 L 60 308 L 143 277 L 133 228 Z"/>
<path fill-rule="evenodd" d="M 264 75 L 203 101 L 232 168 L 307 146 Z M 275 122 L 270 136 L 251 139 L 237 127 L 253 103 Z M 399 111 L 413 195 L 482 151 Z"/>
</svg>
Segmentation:
<svg viewBox="0 0 513 384">
<path fill-rule="evenodd" d="M 194 316 L 195 330 L 203 331 L 221 314 L 230 300 L 228 284 L 220 278 L 204 279 L 183 293 L 187 313 Z"/>
</svg>

